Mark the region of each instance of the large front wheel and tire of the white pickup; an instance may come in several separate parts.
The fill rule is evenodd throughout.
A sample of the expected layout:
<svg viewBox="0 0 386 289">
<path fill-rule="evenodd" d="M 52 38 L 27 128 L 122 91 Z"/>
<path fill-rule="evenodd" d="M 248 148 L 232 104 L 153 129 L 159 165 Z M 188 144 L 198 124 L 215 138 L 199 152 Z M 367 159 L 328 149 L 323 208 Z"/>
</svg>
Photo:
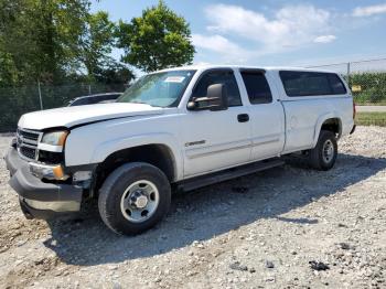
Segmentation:
<svg viewBox="0 0 386 289">
<path fill-rule="evenodd" d="M 170 203 L 168 178 L 158 168 L 143 162 L 126 163 L 116 169 L 105 180 L 98 197 L 101 220 L 122 235 L 137 235 L 154 226 L 168 213 Z"/>
</svg>

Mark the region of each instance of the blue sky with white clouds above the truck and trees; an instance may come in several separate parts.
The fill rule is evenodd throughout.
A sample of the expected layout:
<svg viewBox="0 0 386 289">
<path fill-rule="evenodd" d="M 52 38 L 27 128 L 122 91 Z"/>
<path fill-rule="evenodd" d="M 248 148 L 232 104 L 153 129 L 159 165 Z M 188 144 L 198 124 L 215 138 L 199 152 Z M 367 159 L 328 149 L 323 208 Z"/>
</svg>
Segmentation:
<svg viewBox="0 0 386 289">
<path fill-rule="evenodd" d="M 158 0 L 93 1 L 130 21 Z M 386 57 L 386 1 L 165 0 L 190 23 L 194 64 L 311 66 Z M 120 51 L 114 51 L 119 58 Z"/>
</svg>

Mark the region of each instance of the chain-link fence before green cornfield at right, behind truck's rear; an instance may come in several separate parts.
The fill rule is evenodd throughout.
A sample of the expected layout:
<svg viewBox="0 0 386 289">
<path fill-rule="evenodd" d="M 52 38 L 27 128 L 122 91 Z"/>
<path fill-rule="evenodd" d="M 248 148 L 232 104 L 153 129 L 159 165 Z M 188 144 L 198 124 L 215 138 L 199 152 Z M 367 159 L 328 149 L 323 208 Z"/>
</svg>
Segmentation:
<svg viewBox="0 0 386 289">
<path fill-rule="evenodd" d="M 333 71 L 343 75 L 349 82 L 356 104 L 386 105 L 386 58 L 308 67 Z"/>
</svg>

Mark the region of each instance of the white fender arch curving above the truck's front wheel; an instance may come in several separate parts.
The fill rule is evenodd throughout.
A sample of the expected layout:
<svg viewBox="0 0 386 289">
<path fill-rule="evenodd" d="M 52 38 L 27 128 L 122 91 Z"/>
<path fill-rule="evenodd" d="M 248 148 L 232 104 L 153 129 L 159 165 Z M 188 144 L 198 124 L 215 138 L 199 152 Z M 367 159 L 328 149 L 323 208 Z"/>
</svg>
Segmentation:
<svg viewBox="0 0 386 289">
<path fill-rule="evenodd" d="M 181 156 L 181 151 L 179 150 L 178 143 L 178 139 L 175 139 L 173 135 L 167 132 L 143 133 L 120 139 L 112 139 L 100 142 L 95 147 L 90 163 L 100 163 L 105 161 L 108 156 L 119 150 L 146 144 L 163 144 L 171 151 L 173 156 L 174 173 L 176 180 L 181 180 L 183 176 L 183 158 Z"/>
</svg>

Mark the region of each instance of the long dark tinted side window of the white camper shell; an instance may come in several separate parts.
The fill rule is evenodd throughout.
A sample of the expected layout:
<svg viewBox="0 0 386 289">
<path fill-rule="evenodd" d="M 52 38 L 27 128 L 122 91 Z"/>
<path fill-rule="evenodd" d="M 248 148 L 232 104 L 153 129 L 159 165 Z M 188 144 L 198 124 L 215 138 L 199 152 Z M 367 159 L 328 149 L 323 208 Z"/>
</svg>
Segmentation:
<svg viewBox="0 0 386 289">
<path fill-rule="evenodd" d="M 288 96 L 340 95 L 346 89 L 333 73 L 280 72 L 280 78 Z"/>
</svg>

